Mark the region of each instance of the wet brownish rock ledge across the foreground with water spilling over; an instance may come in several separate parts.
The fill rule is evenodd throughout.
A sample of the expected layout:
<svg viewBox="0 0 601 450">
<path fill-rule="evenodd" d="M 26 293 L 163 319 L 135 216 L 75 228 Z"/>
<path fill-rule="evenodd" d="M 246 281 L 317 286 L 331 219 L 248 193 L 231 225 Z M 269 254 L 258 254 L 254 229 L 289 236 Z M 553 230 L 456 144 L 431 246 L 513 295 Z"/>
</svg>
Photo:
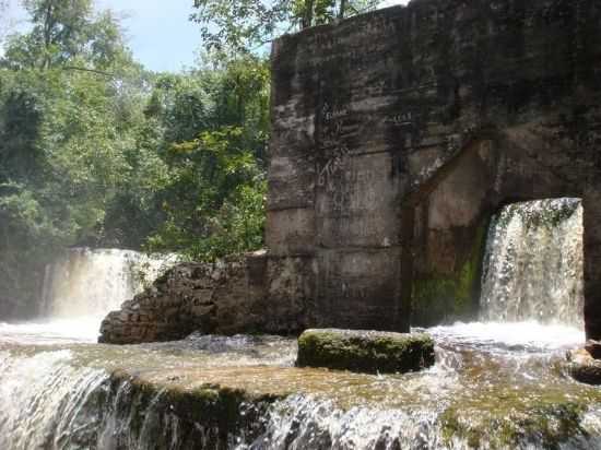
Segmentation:
<svg viewBox="0 0 601 450">
<path fill-rule="evenodd" d="M 436 365 L 402 375 L 293 367 L 280 336 L 0 340 L 0 448 L 598 449 L 601 392 L 566 377 L 556 330 L 481 331 L 427 330 Z"/>
</svg>

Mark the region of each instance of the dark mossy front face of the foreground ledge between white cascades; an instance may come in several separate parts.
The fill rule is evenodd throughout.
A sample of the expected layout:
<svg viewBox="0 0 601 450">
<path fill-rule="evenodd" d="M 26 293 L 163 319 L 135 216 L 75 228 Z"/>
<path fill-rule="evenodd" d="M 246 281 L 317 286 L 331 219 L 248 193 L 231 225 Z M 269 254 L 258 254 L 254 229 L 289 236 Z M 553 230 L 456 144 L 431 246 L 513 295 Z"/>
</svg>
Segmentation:
<svg viewBox="0 0 601 450">
<path fill-rule="evenodd" d="M 111 402 L 106 408 L 127 427 L 129 439 L 116 442 L 118 449 L 149 439 L 153 441 L 150 448 L 156 449 L 228 449 L 236 436 L 252 440 L 263 433 L 261 418 L 271 403 L 282 398 L 221 384 L 184 387 L 174 381 L 157 382 L 121 370 L 111 374 Z"/>
</svg>

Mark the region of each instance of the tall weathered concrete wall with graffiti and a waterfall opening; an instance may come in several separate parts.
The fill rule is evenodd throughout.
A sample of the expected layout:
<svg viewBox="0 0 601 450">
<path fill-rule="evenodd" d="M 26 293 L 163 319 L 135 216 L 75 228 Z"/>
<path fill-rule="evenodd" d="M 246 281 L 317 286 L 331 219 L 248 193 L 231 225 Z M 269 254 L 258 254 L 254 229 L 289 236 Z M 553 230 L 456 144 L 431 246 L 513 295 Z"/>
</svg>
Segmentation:
<svg viewBox="0 0 601 450">
<path fill-rule="evenodd" d="M 601 338 L 599 1 L 413 0 L 278 39 L 272 73 L 256 329 L 473 318 L 490 217 L 577 197 Z"/>
</svg>

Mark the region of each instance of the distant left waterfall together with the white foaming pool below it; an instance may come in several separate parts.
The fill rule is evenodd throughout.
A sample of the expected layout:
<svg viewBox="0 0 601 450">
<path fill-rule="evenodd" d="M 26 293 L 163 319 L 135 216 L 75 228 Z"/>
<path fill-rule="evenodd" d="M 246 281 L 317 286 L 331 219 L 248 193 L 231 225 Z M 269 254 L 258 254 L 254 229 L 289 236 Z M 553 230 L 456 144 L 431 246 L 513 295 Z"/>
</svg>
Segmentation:
<svg viewBox="0 0 601 450">
<path fill-rule="evenodd" d="M 38 317 L 1 323 L 0 338 L 95 342 L 103 318 L 177 262 L 177 256 L 73 248 L 46 267 Z"/>
</svg>

